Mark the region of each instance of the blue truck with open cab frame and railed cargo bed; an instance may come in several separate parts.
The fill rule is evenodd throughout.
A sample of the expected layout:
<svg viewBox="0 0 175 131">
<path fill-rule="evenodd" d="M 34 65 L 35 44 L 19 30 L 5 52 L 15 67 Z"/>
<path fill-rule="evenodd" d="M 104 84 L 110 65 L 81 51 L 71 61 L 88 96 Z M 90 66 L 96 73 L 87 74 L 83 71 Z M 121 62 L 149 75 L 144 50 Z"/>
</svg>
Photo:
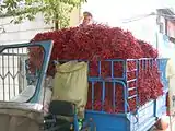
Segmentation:
<svg viewBox="0 0 175 131">
<path fill-rule="evenodd" d="M 40 71 L 31 73 L 27 68 L 27 59 L 30 57 L 28 49 L 40 48 L 44 50 L 43 60 L 39 63 Z M 44 115 L 45 106 L 45 86 L 46 74 L 49 64 L 49 59 L 52 49 L 52 41 L 38 41 L 35 45 L 14 44 L 0 46 L 0 86 L 3 88 L 3 98 L 0 102 L 0 127 L 1 131 L 149 131 L 163 115 L 166 114 L 166 96 L 168 92 L 168 83 L 165 75 L 167 59 L 112 59 L 105 60 L 112 64 L 110 79 L 102 79 L 97 76 L 88 76 L 89 83 L 92 83 L 90 88 L 92 92 L 92 104 L 94 103 L 94 86 L 93 83 L 102 83 L 102 105 L 105 103 L 105 83 L 109 82 L 113 85 L 119 84 L 122 87 L 124 97 L 124 112 L 109 114 L 104 111 L 103 106 L 101 110 L 85 109 L 83 122 L 77 115 L 75 105 L 73 103 L 63 100 L 52 100 L 48 107 L 49 115 Z M 4 62 L 5 61 L 5 62 Z M 61 61 L 61 60 L 56 60 Z M 84 60 L 78 60 L 84 61 Z M 68 62 L 68 60 L 66 61 Z M 89 66 L 89 61 L 84 61 Z M 101 72 L 101 62 L 98 62 L 98 74 Z M 124 73 L 120 78 L 113 75 L 114 62 L 122 63 Z M 136 69 L 127 69 L 129 62 L 135 62 Z M 143 106 L 139 104 L 138 93 L 128 95 L 131 90 L 137 91 L 136 87 L 129 87 L 130 82 L 138 82 L 140 67 L 147 66 L 153 68 L 153 63 L 159 67 L 160 79 L 163 83 L 163 95 L 156 99 L 150 99 Z M 126 72 L 136 72 L 136 78 L 129 80 Z M 35 75 L 34 75 L 35 74 Z M 9 83 L 7 83 L 7 81 Z M 16 90 L 18 88 L 18 90 Z M 113 87 L 115 102 L 115 87 Z M 52 91 L 52 90 L 50 90 Z M 79 93 L 79 91 L 77 91 Z M 132 99 L 137 104 L 135 111 L 128 110 L 128 102 Z M 117 99 L 119 100 L 119 99 Z M 113 104 L 115 107 L 115 103 Z M 72 117 L 73 119 L 60 120 L 57 116 Z M 80 126 L 80 123 L 82 123 Z M 80 128 L 81 127 L 81 128 Z"/>
</svg>

